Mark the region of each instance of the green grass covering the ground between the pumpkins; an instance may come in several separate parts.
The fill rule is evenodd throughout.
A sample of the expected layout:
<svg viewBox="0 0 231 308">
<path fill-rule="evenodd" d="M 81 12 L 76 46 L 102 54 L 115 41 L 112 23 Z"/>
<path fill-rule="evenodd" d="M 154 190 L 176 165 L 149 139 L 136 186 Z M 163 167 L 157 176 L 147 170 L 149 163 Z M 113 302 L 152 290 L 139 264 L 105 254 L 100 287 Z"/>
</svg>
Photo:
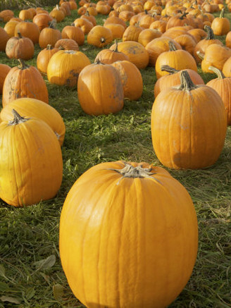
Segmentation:
<svg viewBox="0 0 231 308">
<path fill-rule="evenodd" d="M 49 11 L 51 8 L 48 8 Z M 18 11 L 15 11 L 18 15 Z M 77 13 L 58 24 L 77 18 Z M 104 16 L 97 16 L 99 24 Z M 3 27 L 4 24 L 0 23 Z M 224 37 L 220 39 L 224 42 Z M 100 49 L 83 45 L 91 62 Z M 40 49 L 28 61 L 36 66 Z M 0 53 L 0 63 L 15 60 Z M 87 116 L 76 88 L 50 85 L 49 104 L 65 121 L 63 183 L 58 195 L 35 206 L 15 209 L 0 201 L 0 307 L 83 307 L 71 292 L 58 253 L 58 224 L 65 197 L 75 180 L 103 161 L 147 161 L 162 166 L 151 145 L 150 114 L 154 102 L 154 68 L 141 70 L 144 92 L 139 101 L 125 100 L 123 111 L 109 116 Z M 204 74 L 208 82 L 214 75 Z M 216 142 L 216 140 L 215 140 Z M 199 252 L 192 277 L 170 308 L 231 307 L 231 129 L 214 166 L 204 170 L 166 168 L 192 197 L 199 223 Z M 164 167 L 165 168 L 165 167 Z"/>
</svg>

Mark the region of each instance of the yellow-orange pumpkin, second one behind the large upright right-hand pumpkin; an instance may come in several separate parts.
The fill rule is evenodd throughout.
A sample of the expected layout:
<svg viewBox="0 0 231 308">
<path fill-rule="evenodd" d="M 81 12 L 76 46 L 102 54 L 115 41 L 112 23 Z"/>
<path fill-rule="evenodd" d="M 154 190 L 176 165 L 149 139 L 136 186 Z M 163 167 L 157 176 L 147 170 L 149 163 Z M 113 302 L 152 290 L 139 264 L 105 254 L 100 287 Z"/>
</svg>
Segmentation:
<svg viewBox="0 0 231 308">
<path fill-rule="evenodd" d="M 196 61 L 188 51 L 183 49 L 176 49 L 173 42 L 169 42 L 169 51 L 165 51 L 156 59 L 156 78 L 167 75 L 168 72 L 161 70 L 161 66 L 168 65 L 176 70 L 183 70 L 190 68 L 197 72 Z"/>
</svg>

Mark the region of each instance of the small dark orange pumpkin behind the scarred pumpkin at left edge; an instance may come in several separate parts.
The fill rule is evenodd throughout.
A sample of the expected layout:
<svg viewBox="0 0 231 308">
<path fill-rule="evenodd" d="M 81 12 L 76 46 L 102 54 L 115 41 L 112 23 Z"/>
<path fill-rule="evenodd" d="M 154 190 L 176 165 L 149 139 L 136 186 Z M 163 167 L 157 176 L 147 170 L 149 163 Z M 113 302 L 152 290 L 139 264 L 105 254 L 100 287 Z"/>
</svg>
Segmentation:
<svg viewBox="0 0 231 308">
<path fill-rule="evenodd" d="M 21 58 L 29 60 L 34 56 L 35 47 L 31 39 L 23 37 L 18 31 L 17 37 L 11 37 L 6 43 L 6 56 L 8 58 Z"/>
</svg>

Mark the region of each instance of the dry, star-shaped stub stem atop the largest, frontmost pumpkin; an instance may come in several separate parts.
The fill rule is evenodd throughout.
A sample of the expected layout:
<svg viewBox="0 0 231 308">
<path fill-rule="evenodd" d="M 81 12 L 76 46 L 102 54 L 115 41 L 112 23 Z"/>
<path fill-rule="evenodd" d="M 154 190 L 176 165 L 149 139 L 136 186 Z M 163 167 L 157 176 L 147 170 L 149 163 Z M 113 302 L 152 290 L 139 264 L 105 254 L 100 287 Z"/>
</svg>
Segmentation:
<svg viewBox="0 0 231 308">
<path fill-rule="evenodd" d="M 120 173 L 120 175 L 122 175 L 122 178 L 120 178 L 120 180 L 122 180 L 123 178 L 152 178 L 152 179 L 156 180 L 155 178 L 153 178 L 151 176 L 151 175 L 154 175 L 154 173 L 151 172 L 152 167 L 151 168 L 143 168 L 142 165 L 134 167 L 130 164 L 127 164 L 126 161 L 123 161 L 123 164 L 125 166 L 122 169 L 109 168 L 108 170 L 112 170 L 112 171 L 116 171 L 116 172 Z M 120 183 L 120 180 L 118 180 L 117 185 Z M 159 183 L 161 183 L 161 182 L 159 182 Z"/>
</svg>

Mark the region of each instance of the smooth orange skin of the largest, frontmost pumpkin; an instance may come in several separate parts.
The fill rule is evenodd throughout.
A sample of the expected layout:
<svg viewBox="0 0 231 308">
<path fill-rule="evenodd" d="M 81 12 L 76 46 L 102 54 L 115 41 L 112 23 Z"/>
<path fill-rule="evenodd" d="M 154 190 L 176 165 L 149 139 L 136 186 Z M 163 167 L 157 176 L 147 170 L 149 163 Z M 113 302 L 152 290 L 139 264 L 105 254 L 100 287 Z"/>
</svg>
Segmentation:
<svg viewBox="0 0 231 308">
<path fill-rule="evenodd" d="M 132 167 L 149 176 L 120 174 Z M 192 199 L 168 171 L 103 163 L 85 172 L 65 199 L 61 264 L 88 308 L 163 308 L 189 280 L 197 237 Z"/>
</svg>

